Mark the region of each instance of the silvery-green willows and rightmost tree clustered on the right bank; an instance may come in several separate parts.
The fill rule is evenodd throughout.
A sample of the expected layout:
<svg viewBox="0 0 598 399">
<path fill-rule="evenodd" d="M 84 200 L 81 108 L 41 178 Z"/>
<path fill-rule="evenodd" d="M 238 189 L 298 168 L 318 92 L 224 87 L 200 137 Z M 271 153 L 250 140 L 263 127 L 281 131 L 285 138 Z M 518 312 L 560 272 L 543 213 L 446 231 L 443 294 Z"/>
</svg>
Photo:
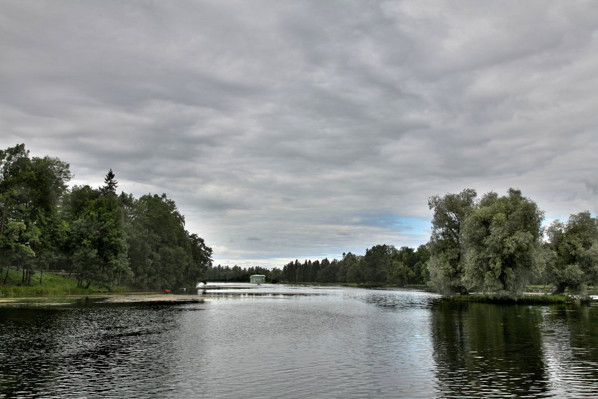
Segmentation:
<svg viewBox="0 0 598 399">
<path fill-rule="evenodd" d="M 584 297 L 598 279 L 598 220 L 588 211 L 544 229 L 544 211 L 512 188 L 480 199 L 463 190 L 431 197 L 428 205 L 429 284 L 443 294 L 512 299 L 535 283 Z"/>
</svg>

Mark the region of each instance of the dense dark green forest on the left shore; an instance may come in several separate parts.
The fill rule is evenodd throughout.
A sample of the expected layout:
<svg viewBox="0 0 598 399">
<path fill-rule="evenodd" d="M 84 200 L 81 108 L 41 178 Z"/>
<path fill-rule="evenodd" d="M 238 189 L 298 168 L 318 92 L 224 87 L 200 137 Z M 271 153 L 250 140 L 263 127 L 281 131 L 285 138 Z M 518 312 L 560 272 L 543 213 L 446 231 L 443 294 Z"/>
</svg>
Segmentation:
<svg viewBox="0 0 598 399">
<path fill-rule="evenodd" d="M 22 270 L 66 270 L 81 287 L 142 289 L 195 286 L 211 266 L 212 249 L 185 230 L 166 194 L 117 194 L 109 170 L 104 185 L 74 185 L 68 163 L 30 157 L 24 144 L 0 150 L 0 282 Z"/>
</svg>

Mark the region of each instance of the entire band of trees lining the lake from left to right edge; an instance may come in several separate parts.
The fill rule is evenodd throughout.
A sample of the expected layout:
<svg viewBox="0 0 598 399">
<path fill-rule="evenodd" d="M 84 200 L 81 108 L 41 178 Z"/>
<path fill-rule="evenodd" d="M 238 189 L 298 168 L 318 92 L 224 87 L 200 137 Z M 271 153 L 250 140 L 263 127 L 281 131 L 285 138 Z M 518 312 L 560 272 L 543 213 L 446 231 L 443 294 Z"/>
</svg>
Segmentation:
<svg viewBox="0 0 598 399">
<path fill-rule="evenodd" d="M 544 211 L 521 191 L 432 196 L 432 233 L 418 248 L 374 245 L 342 258 L 264 267 L 212 266 L 212 249 L 185 230 L 166 194 L 121 191 L 112 169 L 102 187 L 67 183 L 69 164 L 30 157 L 25 144 L 0 150 L 0 284 L 31 285 L 45 270 L 78 287 L 139 290 L 195 287 L 199 281 L 428 285 L 459 293 L 515 297 L 529 284 L 584 296 L 598 281 L 598 220 L 589 211 L 542 226 Z M 11 270 L 13 272 L 11 273 Z M 20 271 L 20 281 L 14 272 Z M 10 278 L 13 276 L 13 278 Z"/>
</svg>

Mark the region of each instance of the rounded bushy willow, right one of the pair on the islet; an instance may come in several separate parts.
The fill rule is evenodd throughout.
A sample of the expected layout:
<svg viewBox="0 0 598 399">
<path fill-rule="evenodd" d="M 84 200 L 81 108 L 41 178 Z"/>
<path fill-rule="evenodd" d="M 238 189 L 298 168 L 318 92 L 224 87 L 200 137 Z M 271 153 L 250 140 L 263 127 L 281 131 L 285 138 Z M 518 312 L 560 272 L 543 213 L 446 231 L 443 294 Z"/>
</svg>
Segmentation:
<svg viewBox="0 0 598 399">
<path fill-rule="evenodd" d="M 544 266 L 542 220 L 544 211 L 520 190 L 485 194 L 463 225 L 463 282 L 500 297 L 520 294 Z"/>
</svg>

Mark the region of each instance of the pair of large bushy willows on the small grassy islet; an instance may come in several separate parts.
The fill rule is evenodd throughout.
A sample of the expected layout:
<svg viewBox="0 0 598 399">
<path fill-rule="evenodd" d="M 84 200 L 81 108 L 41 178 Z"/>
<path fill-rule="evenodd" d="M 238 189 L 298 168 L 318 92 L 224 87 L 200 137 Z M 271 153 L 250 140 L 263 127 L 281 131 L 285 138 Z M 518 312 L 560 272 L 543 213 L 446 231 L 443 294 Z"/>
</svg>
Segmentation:
<svg viewBox="0 0 598 399">
<path fill-rule="evenodd" d="M 428 271 L 435 290 L 512 298 L 544 270 L 544 212 L 521 191 L 476 200 L 468 189 L 431 197 L 428 205 L 434 209 Z"/>
</svg>

